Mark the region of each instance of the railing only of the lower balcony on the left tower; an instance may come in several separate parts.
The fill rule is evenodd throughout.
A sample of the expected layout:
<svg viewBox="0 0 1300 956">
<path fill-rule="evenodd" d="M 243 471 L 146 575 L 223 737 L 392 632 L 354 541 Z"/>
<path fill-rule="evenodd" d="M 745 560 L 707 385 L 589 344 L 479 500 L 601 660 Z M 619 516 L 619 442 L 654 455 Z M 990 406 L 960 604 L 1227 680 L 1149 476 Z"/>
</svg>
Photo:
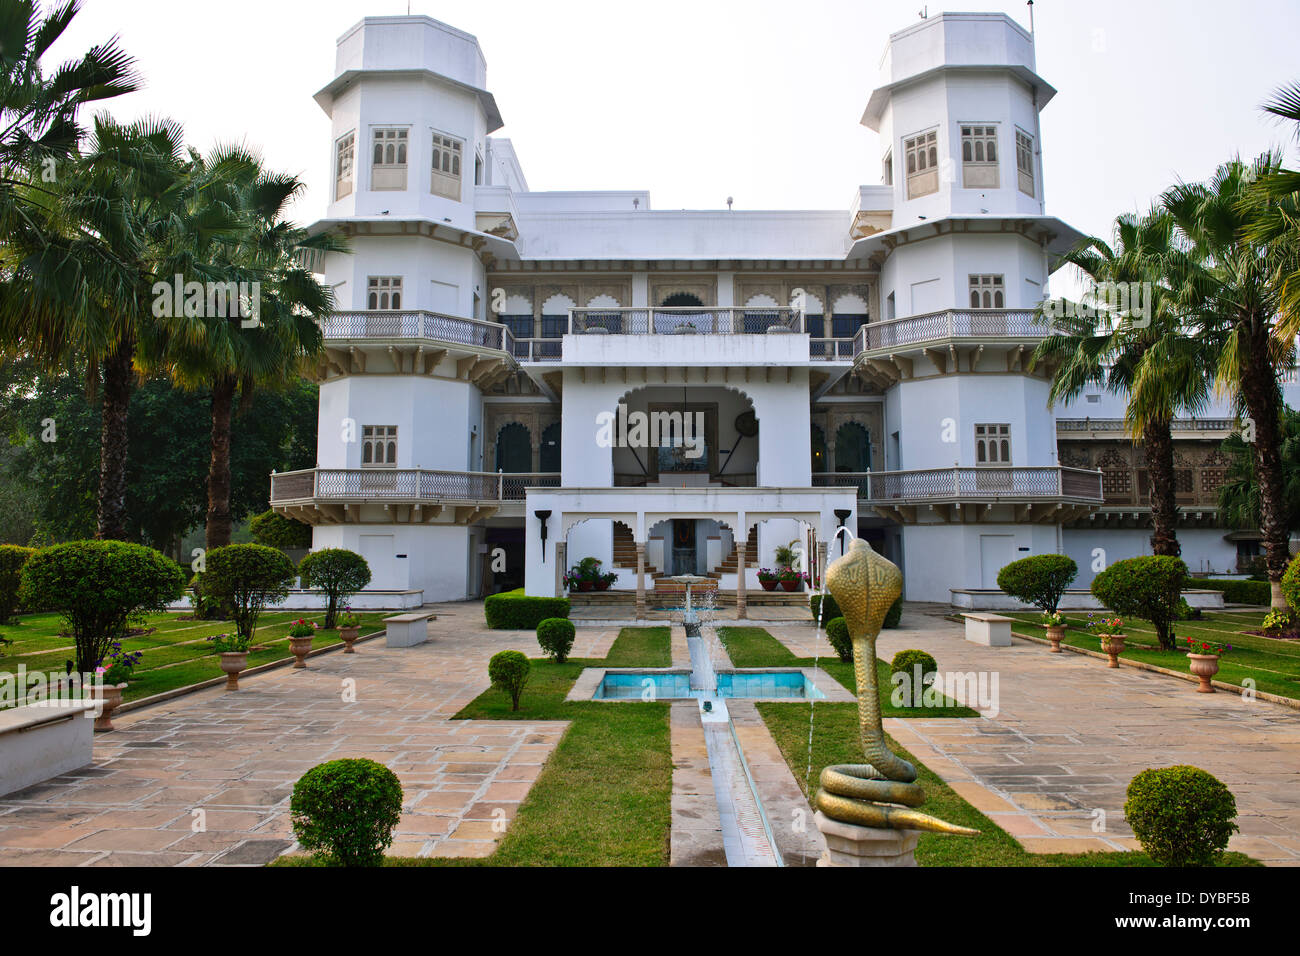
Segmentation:
<svg viewBox="0 0 1300 956">
<path fill-rule="evenodd" d="M 425 468 L 308 468 L 270 476 L 270 502 L 523 501 L 529 488 L 559 488 L 559 472 L 511 473 Z"/>
</svg>

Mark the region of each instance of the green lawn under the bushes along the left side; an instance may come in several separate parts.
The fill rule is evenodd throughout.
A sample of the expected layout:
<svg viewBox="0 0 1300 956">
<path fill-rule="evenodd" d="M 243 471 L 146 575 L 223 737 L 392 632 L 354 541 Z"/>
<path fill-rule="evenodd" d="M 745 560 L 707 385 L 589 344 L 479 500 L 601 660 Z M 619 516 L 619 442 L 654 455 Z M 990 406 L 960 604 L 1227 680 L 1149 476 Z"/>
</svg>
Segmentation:
<svg viewBox="0 0 1300 956">
<path fill-rule="evenodd" d="M 359 614 L 361 636 L 384 630 L 386 613 Z M 299 618 L 321 623 L 325 614 L 304 611 L 266 611 L 261 615 L 254 639 L 256 650 L 248 654 L 248 666 L 283 661 L 289 653 L 289 626 Z M 212 635 L 234 631 L 229 620 L 186 620 L 179 614 L 152 614 L 146 619 L 151 633 L 129 637 L 122 641 L 124 650 L 140 650 L 144 657 L 135 669 L 124 700 L 131 701 L 150 697 L 178 687 L 198 684 L 204 680 L 224 676 L 212 644 Z M 27 672 L 56 671 L 62 674 L 66 662 L 75 658 L 70 637 L 64 637 L 64 628 L 57 614 L 25 614 L 17 624 L 0 626 L 0 637 L 13 644 L 0 644 L 0 674 L 17 672 L 18 665 L 26 665 Z M 312 648 L 324 648 L 339 643 L 337 631 L 317 631 Z"/>
</svg>

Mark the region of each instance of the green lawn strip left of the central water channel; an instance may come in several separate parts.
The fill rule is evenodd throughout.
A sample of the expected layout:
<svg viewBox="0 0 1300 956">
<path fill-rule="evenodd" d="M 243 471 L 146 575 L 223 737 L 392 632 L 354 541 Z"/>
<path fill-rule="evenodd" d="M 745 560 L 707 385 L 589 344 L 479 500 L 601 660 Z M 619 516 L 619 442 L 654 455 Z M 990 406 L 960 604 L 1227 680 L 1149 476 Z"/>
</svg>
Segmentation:
<svg viewBox="0 0 1300 956">
<path fill-rule="evenodd" d="M 481 860 L 385 857 L 385 866 L 666 866 L 672 805 L 668 705 L 566 701 L 584 667 L 667 667 L 667 627 L 625 627 L 603 659 L 532 661 L 528 687 L 485 691 L 456 719 L 571 721 L 497 852 Z M 276 866 L 316 866 L 282 857 Z"/>
</svg>

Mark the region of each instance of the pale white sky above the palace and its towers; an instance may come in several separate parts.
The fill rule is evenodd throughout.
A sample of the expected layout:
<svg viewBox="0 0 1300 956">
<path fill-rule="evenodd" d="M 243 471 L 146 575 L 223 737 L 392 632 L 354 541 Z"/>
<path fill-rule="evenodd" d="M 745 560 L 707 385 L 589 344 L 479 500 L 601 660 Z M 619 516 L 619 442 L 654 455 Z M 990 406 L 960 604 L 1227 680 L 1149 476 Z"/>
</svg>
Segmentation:
<svg viewBox="0 0 1300 956">
<path fill-rule="evenodd" d="M 880 181 L 858 125 L 889 33 L 920 0 L 411 0 L 474 34 L 536 190 L 649 189 L 656 209 L 848 209 Z M 940 5 L 930 5 L 931 14 Z M 1023 3 L 984 3 L 1028 25 Z M 244 140 L 296 173 L 306 224 L 325 211 L 329 121 L 312 94 L 363 16 L 406 0 L 84 0 L 56 59 L 112 34 L 146 88 L 107 107 L 181 121 L 191 144 Z M 1300 81 L 1295 0 L 1040 0 L 1046 209 L 1109 235 L 1179 177 L 1284 144 L 1260 109 Z"/>
</svg>

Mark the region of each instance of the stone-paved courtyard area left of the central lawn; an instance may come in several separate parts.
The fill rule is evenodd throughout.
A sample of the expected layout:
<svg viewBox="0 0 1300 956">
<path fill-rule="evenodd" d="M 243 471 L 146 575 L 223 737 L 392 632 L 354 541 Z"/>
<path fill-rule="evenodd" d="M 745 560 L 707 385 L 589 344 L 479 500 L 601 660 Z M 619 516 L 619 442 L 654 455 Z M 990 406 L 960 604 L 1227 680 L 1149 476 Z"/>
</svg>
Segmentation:
<svg viewBox="0 0 1300 956">
<path fill-rule="evenodd" d="M 338 757 L 402 779 L 390 853 L 491 853 L 568 724 L 451 721 L 495 652 L 534 654 L 537 639 L 486 630 L 480 602 L 436 610 L 428 644 L 380 637 L 116 718 L 92 767 L 0 797 L 0 865 L 265 864 L 294 843 L 294 782 Z M 603 656 L 616 635 L 580 628 L 573 653 Z"/>
</svg>

